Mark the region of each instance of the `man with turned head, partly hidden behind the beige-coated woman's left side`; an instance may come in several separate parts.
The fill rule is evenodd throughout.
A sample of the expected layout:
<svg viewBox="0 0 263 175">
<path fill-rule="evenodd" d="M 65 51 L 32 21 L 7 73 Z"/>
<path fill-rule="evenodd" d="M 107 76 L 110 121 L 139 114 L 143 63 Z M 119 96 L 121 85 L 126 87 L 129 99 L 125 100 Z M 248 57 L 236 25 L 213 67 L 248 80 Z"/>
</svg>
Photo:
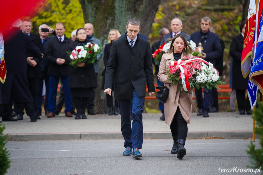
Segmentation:
<svg viewBox="0 0 263 175">
<path fill-rule="evenodd" d="M 160 36 L 160 39 L 158 41 L 155 41 L 152 45 L 151 45 L 151 54 L 153 54 L 155 52 L 155 50 L 157 50 L 159 47 L 160 47 L 160 44 L 161 44 L 161 41 L 163 39 L 163 37 L 166 35 L 166 34 L 169 34 L 169 30 L 166 29 L 166 28 L 162 28 L 160 31 L 159 31 L 159 36 Z M 155 59 L 152 58 L 152 63 L 155 65 L 155 75 L 156 75 L 156 80 L 157 80 L 157 85 L 163 85 L 164 83 L 163 82 L 160 82 L 160 80 L 158 79 L 157 75 L 158 75 L 158 72 L 159 72 L 159 65 L 160 65 L 160 62 L 156 63 Z M 161 110 L 162 112 L 162 116 L 160 117 L 160 120 L 165 120 L 165 116 L 164 116 L 164 103 L 160 102 L 159 101 L 159 109 Z"/>
</svg>

